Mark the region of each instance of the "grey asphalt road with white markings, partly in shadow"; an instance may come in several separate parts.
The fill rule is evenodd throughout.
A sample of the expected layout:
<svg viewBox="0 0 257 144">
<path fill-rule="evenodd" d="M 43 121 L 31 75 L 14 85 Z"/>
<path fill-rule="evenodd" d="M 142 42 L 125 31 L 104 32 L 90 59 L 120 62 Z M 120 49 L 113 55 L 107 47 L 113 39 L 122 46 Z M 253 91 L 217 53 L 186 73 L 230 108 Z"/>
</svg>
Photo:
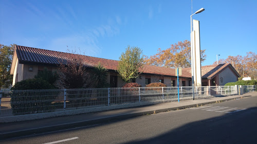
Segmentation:
<svg viewBox="0 0 257 144">
<path fill-rule="evenodd" d="M 0 143 L 257 143 L 257 96 Z"/>
</svg>

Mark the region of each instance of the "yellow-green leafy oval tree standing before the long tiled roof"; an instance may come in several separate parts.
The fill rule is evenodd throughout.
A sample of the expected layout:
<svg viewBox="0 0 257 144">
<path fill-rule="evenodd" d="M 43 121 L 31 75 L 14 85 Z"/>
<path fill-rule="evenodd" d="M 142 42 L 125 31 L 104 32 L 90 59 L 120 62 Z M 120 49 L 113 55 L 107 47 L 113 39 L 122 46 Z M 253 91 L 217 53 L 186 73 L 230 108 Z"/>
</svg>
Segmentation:
<svg viewBox="0 0 257 144">
<path fill-rule="evenodd" d="M 125 53 L 122 53 L 119 57 L 119 65 L 117 68 L 119 76 L 126 81 L 126 83 L 130 83 L 142 73 L 142 71 L 140 71 L 142 68 L 142 50 L 138 47 L 127 46 Z"/>
</svg>

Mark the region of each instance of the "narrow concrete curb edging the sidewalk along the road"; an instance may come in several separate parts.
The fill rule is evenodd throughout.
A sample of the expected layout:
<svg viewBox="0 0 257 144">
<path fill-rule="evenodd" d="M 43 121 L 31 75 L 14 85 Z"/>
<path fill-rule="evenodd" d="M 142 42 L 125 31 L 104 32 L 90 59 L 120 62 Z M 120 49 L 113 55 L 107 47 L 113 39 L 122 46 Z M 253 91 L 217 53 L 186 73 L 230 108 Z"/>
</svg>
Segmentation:
<svg viewBox="0 0 257 144">
<path fill-rule="evenodd" d="M 32 134 L 40 134 L 40 133 L 54 132 L 54 131 L 59 131 L 59 130 L 66 130 L 66 129 L 76 128 L 76 127 L 96 125 L 96 124 L 100 124 L 100 123 L 103 124 L 103 123 L 109 122 L 111 120 L 122 120 L 122 119 L 127 119 L 127 118 L 147 115 L 147 114 L 155 114 L 155 113 L 159 113 L 159 112 L 167 112 L 167 111 L 186 109 L 186 108 L 197 107 L 197 106 L 201 106 L 201 105 L 208 105 L 208 104 L 233 100 L 233 99 L 237 99 L 237 98 L 250 97 L 250 96 L 251 95 L 246 95 L 246 96 L 228 98 L 228 99 L 223 99 L 223 100 L 199 102 L 197 104 L 187 105 L 187 106 L 179 106 L 179 107 L 172 107 L 172 108 L 166 108 L 166 109 L 157 109 L 157 110 L 151 110 L 151 111 L 130 113 L 130 114 L 114 115 L 114 116 L 102 117 L 102 118 L 97 118 L 97 119 L 69 122 L 69 123 L 60 124 L 60 125 L 26 129 L 26 130 L 21 130 L 21 131 L 11 131 L 11 132 L 6 132 L 6 133 L 1 133 L 0 140 L 13 138 L 13 137 L 19 137 L 19 136 L 27 136 L 27 135 L 32 135 Z"/>
</svg>

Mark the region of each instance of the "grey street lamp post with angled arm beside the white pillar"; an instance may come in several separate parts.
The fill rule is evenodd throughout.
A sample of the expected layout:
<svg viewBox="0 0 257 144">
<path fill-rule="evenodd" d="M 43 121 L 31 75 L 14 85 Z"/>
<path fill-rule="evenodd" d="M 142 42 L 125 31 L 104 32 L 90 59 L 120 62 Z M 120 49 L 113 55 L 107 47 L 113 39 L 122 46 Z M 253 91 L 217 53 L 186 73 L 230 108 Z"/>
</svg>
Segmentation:
<svg viewBox="0 0 257 144">
<path fill-rule="evenodd" d="M 205 9 L 201 8 L 199 10 L 197 10 L 194 14 L 203 12 Z M 192 72 L 192 93 L 193 93 L 193 100 L 194 98 L 194 58 L 193 58 L 193 47 L 192 47 L 192 16 L 194 15 L 190 15 L 190 25 L 191 25 L 191 33 L 190 33 L 190 48 L 191 48 L 191 72 Z"/>
</svg>

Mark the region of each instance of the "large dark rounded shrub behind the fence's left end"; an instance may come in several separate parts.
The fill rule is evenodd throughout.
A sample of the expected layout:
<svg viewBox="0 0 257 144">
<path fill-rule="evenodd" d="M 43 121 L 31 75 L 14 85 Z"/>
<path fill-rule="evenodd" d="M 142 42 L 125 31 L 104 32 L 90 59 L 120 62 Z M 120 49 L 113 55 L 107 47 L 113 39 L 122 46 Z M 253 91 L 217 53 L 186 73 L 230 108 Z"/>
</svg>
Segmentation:
<svg viewBox="0 0 257 144">
<path fill-rule="evenodd" d="M 54 89 L 43 79 L 26 79 L 16 83 L 12 87 L 11 107 L 14 115 L 41 113 L 52 110 L 51 102 L 55 99 L 58 93 L 51 90 Z M 54 93 L 54 95 L 53 95 Z"/>
</svg>

